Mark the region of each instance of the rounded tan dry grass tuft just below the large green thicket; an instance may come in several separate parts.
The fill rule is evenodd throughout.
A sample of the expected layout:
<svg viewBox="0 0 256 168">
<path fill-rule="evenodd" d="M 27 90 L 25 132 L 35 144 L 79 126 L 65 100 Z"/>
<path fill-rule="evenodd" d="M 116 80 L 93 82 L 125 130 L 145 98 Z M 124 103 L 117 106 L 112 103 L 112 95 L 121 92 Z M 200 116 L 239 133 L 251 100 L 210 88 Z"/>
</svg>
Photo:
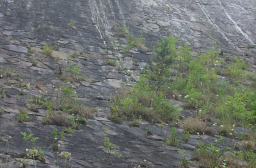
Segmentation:
<svg viewBox="0 0 256 168">
<path fill-rule="evenodd" d="M 185 125 L 183 125 L 182 129 L 197 133 L 199 132 L 200 134 L 204 133 L 204 128 L 205 128 L 205 122 L 202 122 L 201 119 L 199 118 L 189 118 Z M 192 131 L 193 130 L 193 131 Z"/>
</svg>

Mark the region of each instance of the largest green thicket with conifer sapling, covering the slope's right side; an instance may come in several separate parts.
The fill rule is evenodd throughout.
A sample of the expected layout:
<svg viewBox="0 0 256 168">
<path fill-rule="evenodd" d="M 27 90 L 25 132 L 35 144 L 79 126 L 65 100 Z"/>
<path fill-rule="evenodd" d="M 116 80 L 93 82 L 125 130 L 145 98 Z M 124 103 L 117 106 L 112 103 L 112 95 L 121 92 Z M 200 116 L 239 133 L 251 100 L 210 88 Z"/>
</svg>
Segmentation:
<svg viewBox="0 0 256 168">
<path fill-rule="evenodd" d="M 129 52 L 136 38 L 127 36 Z M 130 120 L 136 127 L 138 120 L 150 123 L 171 123 L 182 120 L 178 108 L 174 108 L 171 99 L 182 101 L 182 108 L 196 111 L 196 117 L 189 118 L 182 125 L 185 134 L 183 141 L 188 141 L 190 134 L 208 135 L 214 137 L 218 129 L 222 136 L 234 139 L 234 129 L 237 126 L 255 129 L 256 123 L 256 90 L 255 74 L 248 73 L 250 65 L 243 59 L 220 59 L 220 48 L 209 52 L 196 53 L 196 59 L 191 54 L 191 47 L 175 46 L 179 39 L 169 36 L 157 42 L 155 55 L 141 71 L 139 81 L 134 87 L 120 91 L 112 99 L 111 113 L 122 120 Z M 221 43 L 218 43 L 221 45 Z M 224 77 L 225 76 L 225 77 Z M 246 82 L 245 81 L 250 81 Z M 218 119 L 217 123 L 207 123 L 206 116 Z M 178 123 L 176 123 L 178 124 Z M 213 125 L 212 128 L 209 125 Z M 147 130 L 147 134 L 152 132 Z M 244 136 L 246 137 L 246 136 Z M 172 136 L 166 136 L 166 144 L 179 146 L 175 127 Z M 242 151 L 220 148 L 221 139 L 216 139 L 218 146 L 200 143 L 196 150 L 195 160 L 204 167 L 236 167 L 237 159 L 246 161 L 246 167 L 256 163 L 255 136 L 243 141 Z M 180 161 L 180 167 L 188 167 L 190 163 L 185 157 Z"/>
</svg>

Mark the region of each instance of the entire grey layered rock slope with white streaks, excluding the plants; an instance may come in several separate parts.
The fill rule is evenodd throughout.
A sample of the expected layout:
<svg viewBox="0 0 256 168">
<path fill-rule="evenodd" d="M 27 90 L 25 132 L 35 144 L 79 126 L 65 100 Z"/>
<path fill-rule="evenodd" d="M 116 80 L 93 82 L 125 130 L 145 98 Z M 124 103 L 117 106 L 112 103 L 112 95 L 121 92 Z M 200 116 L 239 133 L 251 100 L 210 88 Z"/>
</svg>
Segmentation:
<svg viewBox="0 0 256 168">
<path fill-rule="evenodd" d="M 94 120 L 90 120 L 92 125 L 83 125 L 74 136 L 65 134 L 65 139 L 58 139 L 60 151 L 72 153 L 73 160 L 67 162 L 67 167 L 136 167 L 140 164 L 177 167 L 182 158 L 180 152 L 190 159 L 200 140 L 214 144 L 213 137 L 191 136 L 188 143 L 182 142 L 183 149 L 166 146 L 162 140 L 170 136 L 170 125 L 157 127 L 141 122 L 140 128 L 129 128 L 129 122 L 117 125 L 107 119 L 110 112 L 106 108 L 107 101 L 116 90 L 132 86 L 132 81 L 138 80 L 138 71 L 152 56 L 143 49 L 134 49 L 131 57 L 123 55 L 120 45 L 125 45 L 125 39 L 115 38 L 113 27 L 129 26 L 132 34 L 145 36 L 148 46 L 164 36 L 173 35 L 180 39 L 180 45 L 193 46 L 194 53 L 207 51 L 211 45 L 218 47 L 220 41 L 224 56 L 245 56 L 247 61 L 254 62 L 255 7 L 253 0 L 0 0 L 0 73 L 7 73 L 1 77 L 0 86 L 9 91 L 9 96 L 0 100 L 0 109 L 4 111 L 0 116 L 2 167 L 6 164 L 16 167 L 18 158 L 24 158 L 22 152 L 31 148 L 20 132 L 40 137 L 33 146 L 42 147 L 47 160 L 46 164 L 37 162 L 36 167 L 57 165 L 54 162 L 58 160 L 57 154 L 48 147 L 55 141 L 51 132 L 54 128 L 63 130 L 63 127 L 41 125 L 47 111 L 42 107 L 36 113 L 29 111 L 26 102 L 28 95 L 51 99 L 54 90 L 66 84 L 57 80 L 59 76 L 54 72 L 59 69 L 66 72 L 71 61 L 80 64 L 80 74 L 86 76 L 86 81 L 72 83 L 79 95 L 76 100 L 99 110 Z M 68 22 L 73 22 L 74 27 L 69 28 Z M 40 49 L 40 45 L 46 43 L 60 48 L 51 57 L 46 57 Z M 78 56 L 69 60 L 70 52 Z M 57 63 L 56 57 L 60 59 Z M 107 65 L 107 59 L 120 60 L 116 64 L 127 68 L 136 67 L 133 71 L 122 71 Z M 30 83 L 27 90 L 18 87 L 24 82 Z M 40 82 L 44 92 L 36 87 Z M 18 123 L 16 118 L 24 108 L 33 118 Z M 195 115 L 186 112 L 183 111 L 183 115 Z M 146 135 L 147 129 L 152 130 L 153 135 Z M 182 132 L 179 129 L 178 136 Z M 122 153 L 122 157 L 110 158 L 112 165 L 104 161 L 108 156 L 104 153 L 104 137 L 107 136 L 110 143 L 115 144 L 115 151 Z M 231 146 L 229 141 L 225 139 L 223 145 Z M 61 159 L 58 164 L 64 167 L 64 163 Z"/>
</svg>

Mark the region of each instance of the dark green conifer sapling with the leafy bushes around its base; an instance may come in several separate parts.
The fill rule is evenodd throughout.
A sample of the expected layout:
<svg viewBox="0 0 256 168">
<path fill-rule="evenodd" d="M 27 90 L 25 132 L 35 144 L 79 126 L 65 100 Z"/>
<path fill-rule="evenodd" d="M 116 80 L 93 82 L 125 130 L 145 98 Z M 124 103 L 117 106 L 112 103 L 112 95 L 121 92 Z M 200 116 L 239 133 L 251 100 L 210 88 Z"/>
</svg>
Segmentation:
<svg viewBox="0 0 256 168">
<path fill-rule="evenodd" d="M 148 71 L 142 72 L 140 81 L 135 83 L 134 88 L 120 92 L 113 99 L 113 106 L 122 106 L 118 113 L 123 118 L 134 120 L 141 116 L 149 122 L 151 120 L 157 122 L 160 119 L 167 122 L 178 117 L 177 108 L 164 99 L 165 94 L 169 92 L 170 79 L 166 76 L 171 74 L 170 66 L 173 62 L 176 41 L 170 36 L 157 43 L 156 55 L 146 67 Z"/>
</svg>

